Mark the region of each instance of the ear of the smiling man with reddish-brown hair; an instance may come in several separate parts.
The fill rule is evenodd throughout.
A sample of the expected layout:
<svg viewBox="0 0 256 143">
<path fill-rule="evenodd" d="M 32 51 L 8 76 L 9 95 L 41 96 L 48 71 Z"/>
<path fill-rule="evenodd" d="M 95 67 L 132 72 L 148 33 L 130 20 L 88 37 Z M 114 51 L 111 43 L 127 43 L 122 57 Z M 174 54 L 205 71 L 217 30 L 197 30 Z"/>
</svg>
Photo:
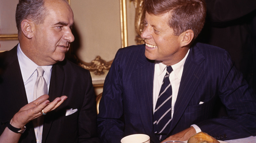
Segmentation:
<svg viewBox="0 0 256 143">
<path fill-rule="evenodd" d="M 185 32 L 181 33 L 181 47 L 185 47 L 191 43 L 191 41 L 194 39 L 194 32 L 191 29 L 186 30 Z"/>
</svg>

